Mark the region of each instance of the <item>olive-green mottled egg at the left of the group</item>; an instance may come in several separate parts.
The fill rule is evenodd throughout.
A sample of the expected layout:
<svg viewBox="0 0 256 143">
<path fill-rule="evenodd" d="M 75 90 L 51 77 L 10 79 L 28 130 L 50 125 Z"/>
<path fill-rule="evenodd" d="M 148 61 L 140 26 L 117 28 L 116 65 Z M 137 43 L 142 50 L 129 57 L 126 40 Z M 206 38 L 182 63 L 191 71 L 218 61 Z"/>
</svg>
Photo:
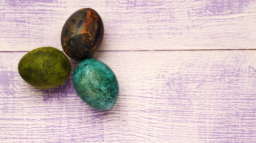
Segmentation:
<svg viewBox="0 0 256 143">
<path fill-rule="evenodd" d="M 70 74 L 70 62 L 53 47 L 36 48 L 26 53 L 18 64 L 20 76 L 37 88 L 54 88 L 63 84 Z"/>
</svg>

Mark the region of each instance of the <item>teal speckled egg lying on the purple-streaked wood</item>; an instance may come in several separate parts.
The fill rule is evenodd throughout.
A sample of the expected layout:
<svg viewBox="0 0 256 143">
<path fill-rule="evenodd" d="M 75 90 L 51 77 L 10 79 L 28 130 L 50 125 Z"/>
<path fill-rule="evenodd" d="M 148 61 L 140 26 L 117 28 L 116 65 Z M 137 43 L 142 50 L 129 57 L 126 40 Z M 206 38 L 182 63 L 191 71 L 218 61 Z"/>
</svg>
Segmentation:
<svg viewBox="0 0 256 143">
<path fill-rule="evenodd" d="M 94 109 L 108 110 L 116 104 L 119 93 L 116 76 L 99 60 L 80 62 L 73 73 L 73 84 L 79 97 Z"/>
</svg>

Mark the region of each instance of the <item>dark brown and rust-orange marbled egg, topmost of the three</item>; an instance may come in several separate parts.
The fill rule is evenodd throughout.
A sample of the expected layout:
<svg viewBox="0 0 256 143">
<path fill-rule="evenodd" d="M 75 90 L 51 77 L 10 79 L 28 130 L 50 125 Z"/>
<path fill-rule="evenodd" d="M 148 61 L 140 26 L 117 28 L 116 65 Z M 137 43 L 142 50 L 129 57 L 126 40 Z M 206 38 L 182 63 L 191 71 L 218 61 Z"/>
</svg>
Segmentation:
<svg viewBox="0 0 256 143">
<path fill-rule="evenodd" d="M 73 13 L 61 31 L 61 46 L 72 59 L 83 60 L 93 56 L 99 49 L 104 26 L 99 14 L 91 8 Z"/>
</svg>

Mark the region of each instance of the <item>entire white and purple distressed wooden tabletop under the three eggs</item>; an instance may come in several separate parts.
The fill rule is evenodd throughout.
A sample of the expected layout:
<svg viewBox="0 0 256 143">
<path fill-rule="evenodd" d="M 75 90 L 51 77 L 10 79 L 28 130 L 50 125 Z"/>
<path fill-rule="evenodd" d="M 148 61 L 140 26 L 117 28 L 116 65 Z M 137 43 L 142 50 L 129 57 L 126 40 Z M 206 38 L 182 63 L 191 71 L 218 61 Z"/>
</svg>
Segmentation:
<svg viewBox="0 0 256 143">
<path fill-rule="evenodd" d="M 42 90 L 17 71 L 28 51 L 61 49 L 80 8 L 104 22 L 93 58 L 119 81 L 109 111 L 69 79 Z M 255 0 L 1 0 L 1 143 L 256 143 Z"/>
</svg>

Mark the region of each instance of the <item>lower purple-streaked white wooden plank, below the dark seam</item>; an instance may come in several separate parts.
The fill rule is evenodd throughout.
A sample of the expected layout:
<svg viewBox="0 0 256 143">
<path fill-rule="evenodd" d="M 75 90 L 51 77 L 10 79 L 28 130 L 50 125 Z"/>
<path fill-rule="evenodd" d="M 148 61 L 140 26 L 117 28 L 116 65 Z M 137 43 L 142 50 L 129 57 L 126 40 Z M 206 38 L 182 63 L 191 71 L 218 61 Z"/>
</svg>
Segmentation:
<svg viewBox="0 0 256 143">
<path fill-rule="evenodd" d="M 97 52 L 120 87 L 105 112 L 72 75 L 52 90 L 26 84 L 25 53 L 0 53 L 0 142 L 256 143 L 255 50 Z"/>
</svg>

